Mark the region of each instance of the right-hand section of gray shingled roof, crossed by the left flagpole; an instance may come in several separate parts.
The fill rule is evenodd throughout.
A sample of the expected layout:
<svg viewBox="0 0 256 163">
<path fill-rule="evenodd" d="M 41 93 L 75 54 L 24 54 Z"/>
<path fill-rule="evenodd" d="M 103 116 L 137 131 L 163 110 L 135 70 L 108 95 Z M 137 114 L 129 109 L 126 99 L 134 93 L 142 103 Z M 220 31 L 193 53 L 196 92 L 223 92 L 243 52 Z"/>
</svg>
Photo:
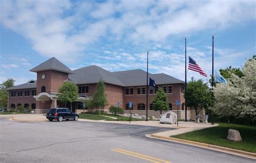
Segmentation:
<svg viewBox="0 0 256 163">
<path fill-rule="evenodd" d="M 128 70 L 128 71 L 117 71 L 112 72 L 116 74 L 116 77 L 123 81 L 125 86 L 143 86 L 147 83 L 147 72 L 137 69 L 137 70 Z M 177 78 L 173 78 L 164 73 L 151 74 L 149 77 L 155 80 L 157 85 L 163 84 L 183 84 L 184 81 Z"/>
</svg>

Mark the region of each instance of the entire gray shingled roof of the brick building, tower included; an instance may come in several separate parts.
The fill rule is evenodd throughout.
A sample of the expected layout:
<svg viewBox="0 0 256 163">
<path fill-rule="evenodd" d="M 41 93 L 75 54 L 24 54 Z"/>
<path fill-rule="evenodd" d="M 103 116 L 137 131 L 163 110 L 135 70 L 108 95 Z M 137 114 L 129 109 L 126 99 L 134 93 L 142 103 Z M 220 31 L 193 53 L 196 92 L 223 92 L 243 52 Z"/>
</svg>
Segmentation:
<svg viewBox="0 0 256 163">
<path fill-rule="evenodd" d="M 69 80 L 76 84 L 92 84 L 98 83 L 102 78 L 105 83 L 120 85 L 120 86 L 144 86 L 146 85 L 147 72 L 137 70 L 117 71 L 110 72 L 102 69 L 98 66 L 92 65 L 83 67 L 81 69 L 71 71 L 64 64 L 59 62 L 56 58 L 51 58 L 46 62 L 31 69 L 32 72 L 38 72 L 43 70 L 56 70 L 69 73 Z M 164 73 L 149 73 L 149 77 L 155 80 L 157 85 L 165 84 L 184 84 L 185 82 L 177 78 L 171 77 Z M 9 87 L 6 90 L 18 90 L 18 89 L 31 89 L 36 88 L 36 83 L 21 84 L 13 87 Z"/>
</svg>

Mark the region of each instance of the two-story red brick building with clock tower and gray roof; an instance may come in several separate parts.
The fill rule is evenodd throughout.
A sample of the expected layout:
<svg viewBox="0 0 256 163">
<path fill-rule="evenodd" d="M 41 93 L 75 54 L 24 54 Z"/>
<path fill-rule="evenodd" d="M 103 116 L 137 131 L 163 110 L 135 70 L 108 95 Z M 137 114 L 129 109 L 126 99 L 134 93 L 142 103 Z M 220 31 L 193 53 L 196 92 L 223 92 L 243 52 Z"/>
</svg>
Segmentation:
<svg viewBox="0 0 256 163">
<path fill-rule="evenodd" d="M 56 94 L 58 88 L 65 81 L 72 81 L 78 85 L 79 97 L 72 103 L 73 112 L 82 111 L 82 102 L 90 100 L 95 92 L 96 84 L 102 78 L 105 83 L 105 94 L 107 105 L 104 111 L 109 110 L 111 105 L 119 107 L 125 112 L 129 111 L 129 102 L 132 101 L 132 112 L 145 115 L 146 110 L 146 75 L 143 70 L 128 70 L 110 72 L 98 66 L 87 66 L 71 71 L 56 58 L 51 58 L 46 62 L 30 70 L 37 73 L 37 80 L 29 80 L 25 84 L 10 87 L 8 108 L 17 108 L 19 105 L 31 107 L 36 113 L 45 113 L 50 107 L 64 107 L 60 103 Z M 170 110 L 184 111 L 184 81 L 168 76 L 164 73 L 151 74 L 159 87 L 163 87 L 169 98 Z M 151 99 L 156 97 L 157 90 L 149 89 L 149 116 L 159 117 L 159 112 L 152 110 Z M 180 101 L 180 106 L 175 105 L 176 100 Z M 68 105 L 70 108 L 70 104 Z M 190 116 L 190 115 L 188 115 Z M 181 113 L 181 118 L 183 118 Z"/>
</svg>

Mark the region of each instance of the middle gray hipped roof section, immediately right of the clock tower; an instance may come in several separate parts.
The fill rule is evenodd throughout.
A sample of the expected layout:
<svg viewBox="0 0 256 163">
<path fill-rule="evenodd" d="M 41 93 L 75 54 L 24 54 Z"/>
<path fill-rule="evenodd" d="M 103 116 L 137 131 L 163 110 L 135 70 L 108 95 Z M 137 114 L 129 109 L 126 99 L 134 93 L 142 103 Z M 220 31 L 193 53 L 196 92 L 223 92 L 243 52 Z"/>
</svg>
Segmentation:
<svg viewBox="0 0 256 163">
<path fill-rule="evenodd" d="M 125 86 L 125 84 L 112 72 L 95 65 L 73 70 L 73 74 L 69 75 L 69 79 L 74 81 L 76 84 L 98 83 L 100 78 L 102 78 L 105 83 Z"/>
</svg>

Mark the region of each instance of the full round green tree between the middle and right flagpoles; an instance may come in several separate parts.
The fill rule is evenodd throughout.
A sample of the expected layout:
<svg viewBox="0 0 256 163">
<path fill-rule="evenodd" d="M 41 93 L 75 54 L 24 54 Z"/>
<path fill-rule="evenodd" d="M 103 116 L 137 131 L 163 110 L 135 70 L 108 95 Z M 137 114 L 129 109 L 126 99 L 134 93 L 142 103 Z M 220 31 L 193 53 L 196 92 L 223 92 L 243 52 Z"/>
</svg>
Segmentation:
<svg viewBox="0 0 256 163">
<path fill-rule="evenodd" d="M 197 116 L 204 108 L 207 110 L 211 106 L 211 100 L 212 93 L 207 84 L 201 79 L 196 81 L 192 77 L 191 81 L 187 83 L 187 106 L 194 108 Z"/>
</svg>

